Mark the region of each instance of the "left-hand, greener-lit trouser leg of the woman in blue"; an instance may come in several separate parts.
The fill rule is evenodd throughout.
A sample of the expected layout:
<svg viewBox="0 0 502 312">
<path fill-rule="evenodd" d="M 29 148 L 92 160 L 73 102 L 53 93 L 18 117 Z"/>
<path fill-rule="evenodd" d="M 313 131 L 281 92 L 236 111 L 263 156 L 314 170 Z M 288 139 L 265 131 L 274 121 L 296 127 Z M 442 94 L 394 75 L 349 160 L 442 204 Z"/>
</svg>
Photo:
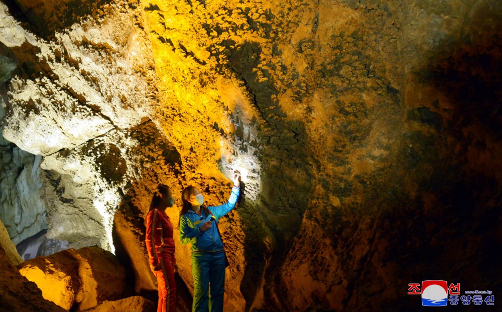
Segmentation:
<svg viewBox="0 0 502 312">
<path fill-rule="evenodd" d="M 192 253 L 193 312 L 209 311 L 209 267 L 211 254 Z"/>
</svg>

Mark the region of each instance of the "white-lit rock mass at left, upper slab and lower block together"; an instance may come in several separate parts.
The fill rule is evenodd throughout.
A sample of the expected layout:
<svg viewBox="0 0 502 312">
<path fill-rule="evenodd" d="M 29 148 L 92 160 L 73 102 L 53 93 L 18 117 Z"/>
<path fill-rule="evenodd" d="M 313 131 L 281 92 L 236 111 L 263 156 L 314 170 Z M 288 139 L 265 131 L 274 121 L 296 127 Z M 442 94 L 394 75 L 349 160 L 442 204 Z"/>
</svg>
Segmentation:
<svg viewBox="0 0 502 312">
<path fill-rule="evenodd" d="M 113 251 L 112 216 L 121 198 L 121 177 L 134 174 L 135 165 L 119 161 L 122 167 L 111 168 L 114 164 L 107 162 L 121 159 L 120 148 L 123 151 L 131 142 L 123 139 L 127 131 L 121 129 L 149 119 L 155 73 L 147 36 L 135 21 L 138 14 L 121 5 L 102 9 L 102 17 L 88 16 L 48 42 L 23 29 L 0 4 L 0 42 L 24 65 L 9 81 L 2 132 L 23 149 L 15 147 L 19 151 L 11 157 L 24 162 L 34 158 L 22 171 L 16 169 L 19 166 L 9 171 L 17 175 L 2 173 L 3 180 L 12 180 L 6 180 L 9 186 L 16 186 L 5 184 L 3 188 L 11 191 L 2 194 L 7 205 L 3 220 L 13 240 L 37 220 L 41 226 L 28 236 L 46 228 L 47 207 L 49 239 L 67 240 L 75 248 L 97 244 Z M 97 139 L 102 137 L 107 139 Z M 97 153 L 87 153 L 89 142 L 104 145 L 94 145 Z M 41 161 L 45 183 L 40 194 L 32 191 L 42 187 Z M 109 168 L 118 170 L 118 180 L 103 177 Z M 32 210 L 21 217 L 20 207 L 28 206 Z"/>
</svg>

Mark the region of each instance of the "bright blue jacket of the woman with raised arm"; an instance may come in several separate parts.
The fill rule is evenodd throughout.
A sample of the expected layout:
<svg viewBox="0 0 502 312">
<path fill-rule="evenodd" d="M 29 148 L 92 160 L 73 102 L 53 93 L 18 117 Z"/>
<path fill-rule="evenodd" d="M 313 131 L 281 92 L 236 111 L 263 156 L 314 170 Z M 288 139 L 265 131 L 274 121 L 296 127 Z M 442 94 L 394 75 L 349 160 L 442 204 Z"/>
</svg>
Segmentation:
<svg viewBox="0 0 502 312">
<path fill-rule="evenodd" d="M 218 234 L 218 229 L 213 223 L 212 227 L 202 232 L 199 228 L 206 221 L 214 221 L 218 223 L 218 219 L 226 215 L 230 210 L 235 207 L 237 199 L 239 198 L 240 188 L 233 187 L 232 194 L 226 204 L 220 206 L 209 206 L 207 207 L 209 211 L 213 214 L 207 215 L 203 209 L 201 209 L 202 216 L 195 213 L 192 209 L 181 216 L 180 219 L 180 239 L 181 244 L 186 245 L 192 243 L 191 251 L 219 251 L 223 249 L 223 243 L 221 237 Z"/>
</svg>

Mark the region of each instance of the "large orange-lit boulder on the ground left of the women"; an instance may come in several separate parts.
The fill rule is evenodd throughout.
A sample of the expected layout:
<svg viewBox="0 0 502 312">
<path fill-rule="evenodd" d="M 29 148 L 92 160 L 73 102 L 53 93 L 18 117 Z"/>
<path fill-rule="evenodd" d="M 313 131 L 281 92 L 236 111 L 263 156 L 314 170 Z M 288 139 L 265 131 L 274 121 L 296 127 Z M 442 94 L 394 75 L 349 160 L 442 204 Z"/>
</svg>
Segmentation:
<svg viewBox="0 0 502 312">
<path fill-rule="evenodd" d="M 120 298 L 125 271 L 108 251 L 99 247 L 68 249 L 19 265 L 44 298 L 65 309 L 80 311 Z"/>
</svg>

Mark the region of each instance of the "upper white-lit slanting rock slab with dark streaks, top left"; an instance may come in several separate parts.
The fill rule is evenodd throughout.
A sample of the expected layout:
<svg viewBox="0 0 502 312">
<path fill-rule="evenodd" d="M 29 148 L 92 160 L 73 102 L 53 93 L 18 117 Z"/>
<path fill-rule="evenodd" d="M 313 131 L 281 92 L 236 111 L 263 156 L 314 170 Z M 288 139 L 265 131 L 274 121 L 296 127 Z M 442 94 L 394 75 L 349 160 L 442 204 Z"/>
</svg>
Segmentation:
<svg viewBox="0 0 502 312">
<path fill-rule="evenodd" d="M 24 31 L 3 5 L 5 32 L 0 41 L 14 48 L 19 62 L 40 69 L 39 77 L 25 76 L 31 76 L 31 72 L 18 73 L 11 80 L 3 128 L 7 139 L 32 153 L 50 154 L 78 146 L 115 127 L 136 125 L 147 116 L 150 100 L 145 94 L 150 93 L 152 72 L 148 71 L 149 59 L 136 56 L 149 53 L 138 44 L 144 34 L 132 23 L 130 14 L 109 10 L 106 22 L 90 18 L 85 25 L 75 24 L 69 33 L 57 35 L 57 43 L 49 45 Z M 134 45 L 130 44 L 132 39 Z M 110 47 L 112 57 L 102 54 L 102 45 Z M 24 53 L 28 48 L 40 54 Z M 142 68 L 139 74 L 138 66 Z M 54 79 L 47 78 L 50 73 Z M 87 73 L 100 78 L 89 81 Z M 29 98 L 37 100 L 31 103 Z M 30 135 L 24 135 L 28 132 Z"/>
</svg>

